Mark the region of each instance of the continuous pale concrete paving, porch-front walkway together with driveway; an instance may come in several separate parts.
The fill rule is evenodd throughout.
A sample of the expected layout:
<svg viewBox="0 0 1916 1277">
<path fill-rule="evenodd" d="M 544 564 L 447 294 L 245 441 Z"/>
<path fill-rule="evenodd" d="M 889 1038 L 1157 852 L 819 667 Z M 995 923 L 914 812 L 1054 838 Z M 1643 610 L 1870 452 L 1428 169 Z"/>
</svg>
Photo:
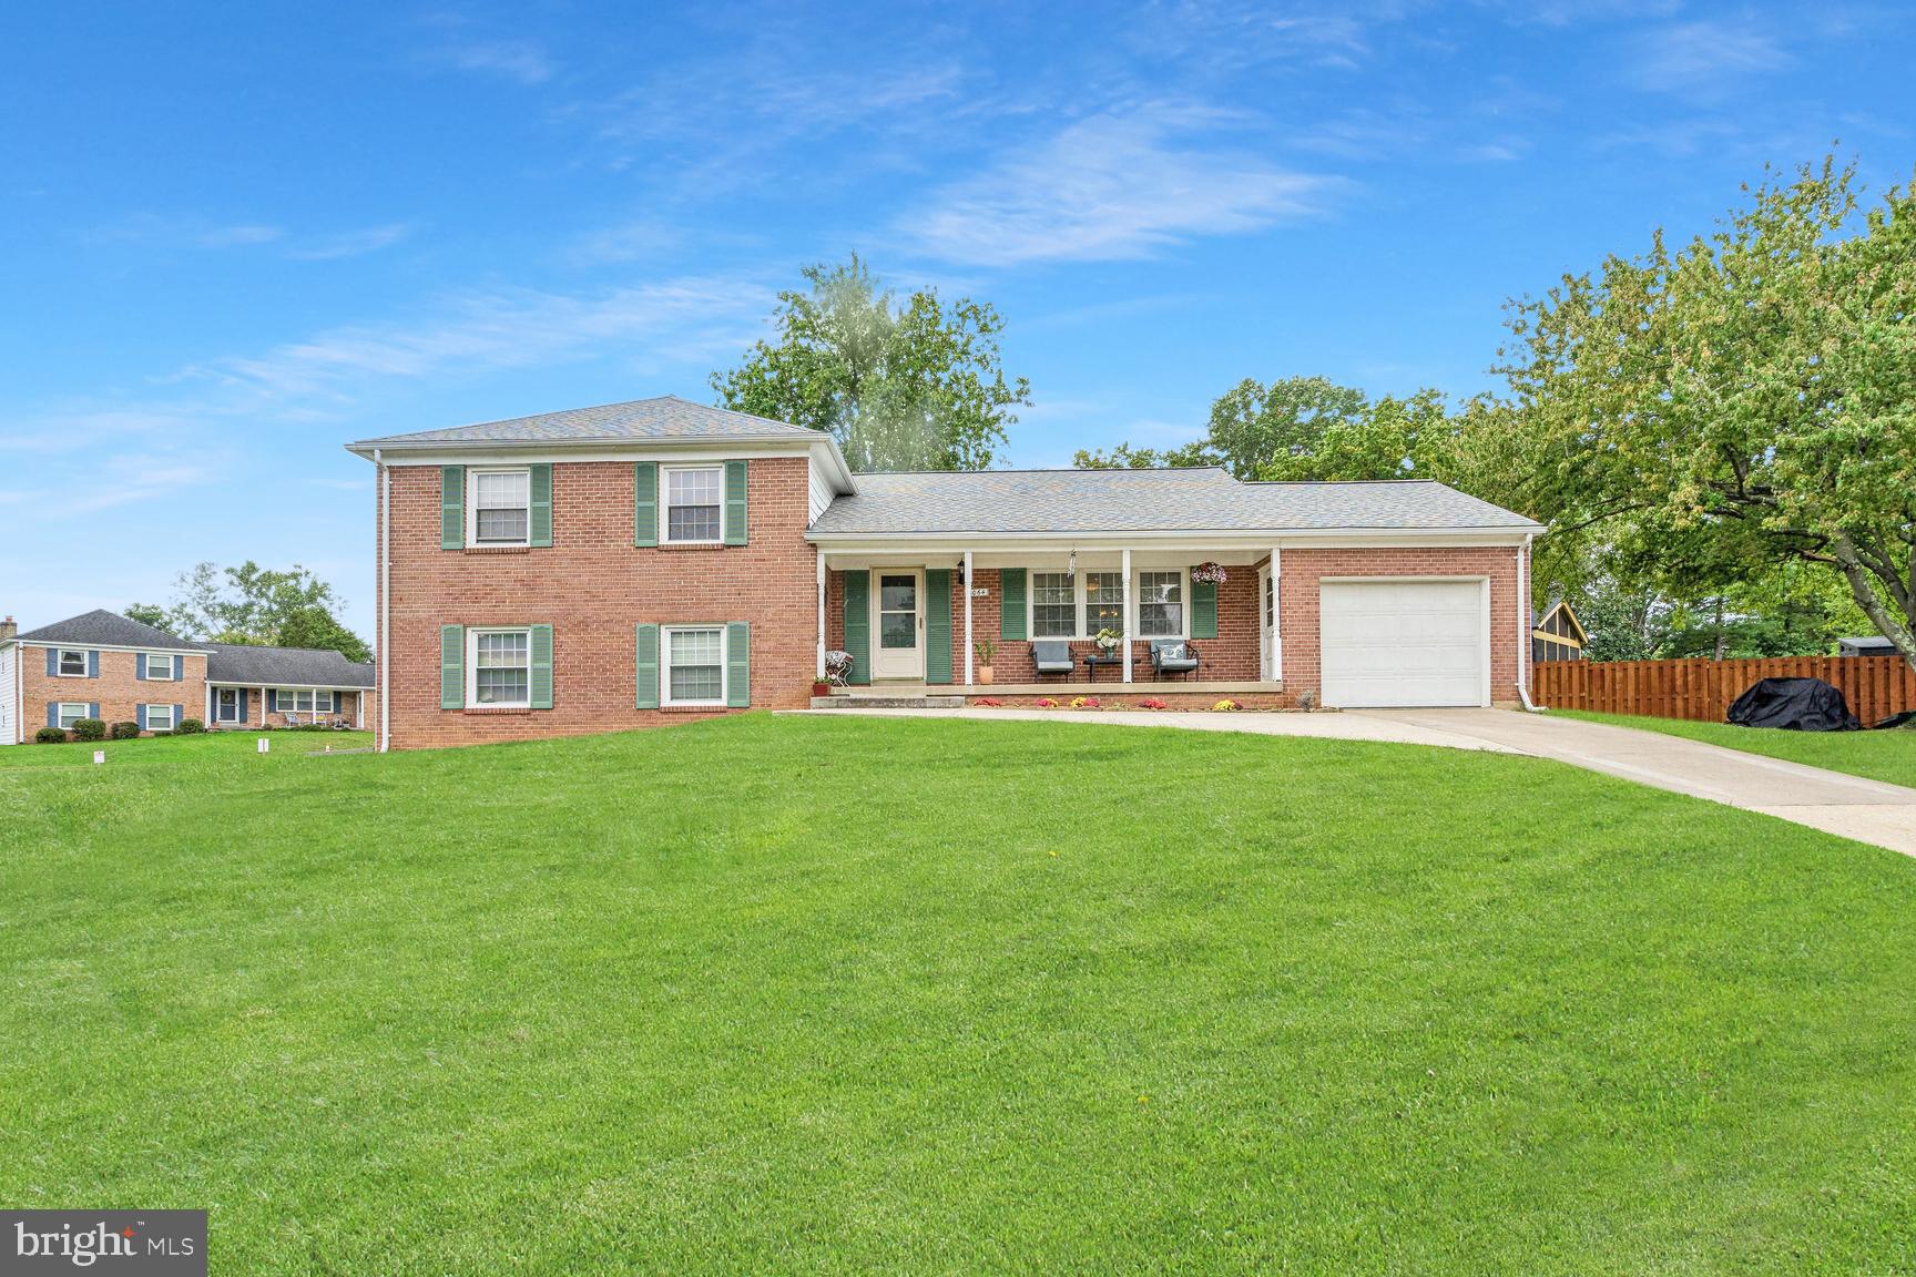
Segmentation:
<svg viewBox="0 0 1916 1277">
<path fill-rule="evenodd" d="M 1554 758 L 1642 785 L 1763 812 L 1797 825 L 1916 856 L 1916 789 L 1805 768 L 1701 741 L 1517 710 L 1345 710 L 1337 714 L 1163 714 L 1150 710 L 797 710 L 977 722 L 1077 722 L 1194 731 L 1249 731 L 1332 741 L 1441 745 Z"/>
</svg>

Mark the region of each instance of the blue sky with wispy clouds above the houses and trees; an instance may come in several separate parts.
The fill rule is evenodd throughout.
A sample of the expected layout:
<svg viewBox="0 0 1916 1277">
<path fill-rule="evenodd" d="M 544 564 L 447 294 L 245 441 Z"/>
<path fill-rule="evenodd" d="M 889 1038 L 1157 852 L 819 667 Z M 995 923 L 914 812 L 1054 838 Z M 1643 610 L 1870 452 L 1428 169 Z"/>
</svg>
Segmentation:
<svg viewBox="0 0 1916 1277">
<path fill-rule="evenodd" d="M 0 611 L 305 563 L 366 435 L 674 392 L 799 266 L 1006 316 L 1008 463 L 1242 377 L 1491 385 L 1506 297 L 1916 163 L 1908 6 L 77 4 L 0 15 Z"/>
</svg>

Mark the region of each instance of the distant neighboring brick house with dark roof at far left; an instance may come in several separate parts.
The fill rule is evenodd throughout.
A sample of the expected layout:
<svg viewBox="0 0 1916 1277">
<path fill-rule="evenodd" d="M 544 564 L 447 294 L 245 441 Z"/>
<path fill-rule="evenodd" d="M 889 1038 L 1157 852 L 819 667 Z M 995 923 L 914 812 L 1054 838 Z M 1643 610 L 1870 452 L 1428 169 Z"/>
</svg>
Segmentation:
<svg viewBox="0 0 1916 1277">
<path fill-rule="evenodd" d="M 285 726 L 289 720 L 372 722 L 370 664 L 337 651 L 195 643 L 119 613 L 19 634 L 0 620 L 0 745 L 80 718 L 171 731 L 182 718 L 207 728 Z"/>
</svg>

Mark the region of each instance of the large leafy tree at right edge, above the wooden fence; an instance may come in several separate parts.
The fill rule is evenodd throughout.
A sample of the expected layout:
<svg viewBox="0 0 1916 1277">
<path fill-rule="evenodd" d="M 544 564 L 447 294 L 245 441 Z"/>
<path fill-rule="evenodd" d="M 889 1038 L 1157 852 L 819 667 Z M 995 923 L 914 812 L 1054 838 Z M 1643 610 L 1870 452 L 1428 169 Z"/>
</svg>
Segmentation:
<svg viewBox="0 0 1916 1277">
<path fill-rule="evenodd" d="M 1860 213 L 1860 216 L 1859 216 Z M 1717 232 L 1512 308 L 1504 373 L 1567 526 L 1816 565 L 1916 666 L 1916 199 L 1834 159 Z"/>
</svg>

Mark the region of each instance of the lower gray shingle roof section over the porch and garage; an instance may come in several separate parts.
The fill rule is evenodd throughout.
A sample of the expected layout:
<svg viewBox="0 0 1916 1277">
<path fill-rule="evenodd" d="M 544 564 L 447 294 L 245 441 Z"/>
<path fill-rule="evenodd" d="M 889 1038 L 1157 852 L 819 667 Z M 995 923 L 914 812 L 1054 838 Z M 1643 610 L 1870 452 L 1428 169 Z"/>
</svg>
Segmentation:
<svg viewBox="0 0 1916 1277">
<path fill-rule="evenodd" d="M 1429 479 L 1240 482 L 1222 469 L 858 475 L 812 525 L 820 536 L 895 532 L 1284 532 L 1539 528 Z"/>
</svg>

